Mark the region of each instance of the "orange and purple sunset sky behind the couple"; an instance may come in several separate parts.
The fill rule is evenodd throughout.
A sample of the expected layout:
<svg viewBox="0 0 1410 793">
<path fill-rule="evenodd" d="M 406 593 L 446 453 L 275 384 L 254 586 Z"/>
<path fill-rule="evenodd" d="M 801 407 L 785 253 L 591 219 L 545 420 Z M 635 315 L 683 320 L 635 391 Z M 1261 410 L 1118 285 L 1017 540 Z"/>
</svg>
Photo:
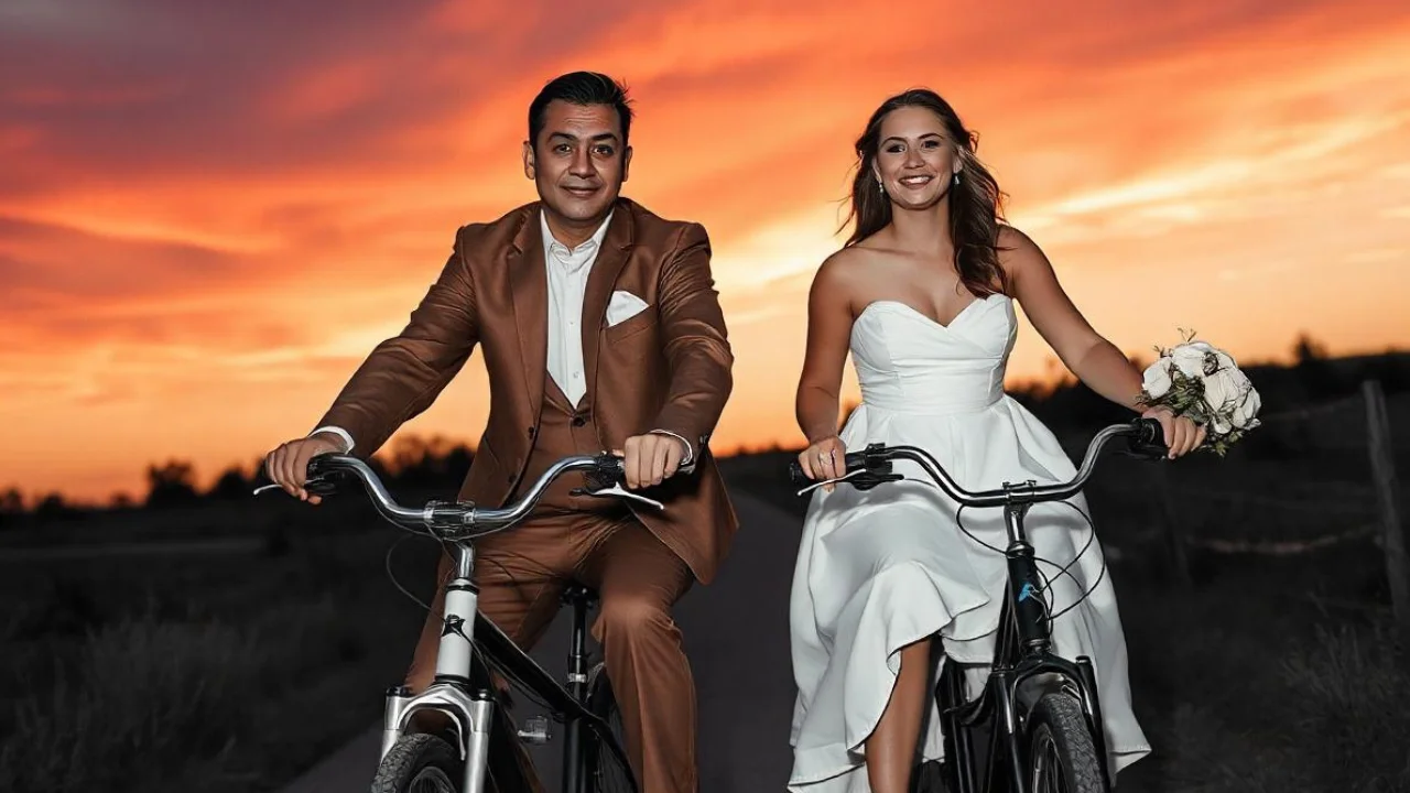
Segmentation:
<svg viewBox="0 0 1410 793">
<path fill-rule="evenodd" d="M 6 0 L 0 488 L 106 501 L 312 429 L 455 227 L 533 200 L 526 107 L 574 69 L 630 85 L 625 195 L 713 241 L 716 452 L 799 439 L 852 141 L 916 85 L 1124 350 L 1407 347 L 1407 41 L 1392 0 Z M 1025 326 L 1010 375 L 1049 360 Z M 477 356 L 405 432 L 485 409 Z"/>
</svg>

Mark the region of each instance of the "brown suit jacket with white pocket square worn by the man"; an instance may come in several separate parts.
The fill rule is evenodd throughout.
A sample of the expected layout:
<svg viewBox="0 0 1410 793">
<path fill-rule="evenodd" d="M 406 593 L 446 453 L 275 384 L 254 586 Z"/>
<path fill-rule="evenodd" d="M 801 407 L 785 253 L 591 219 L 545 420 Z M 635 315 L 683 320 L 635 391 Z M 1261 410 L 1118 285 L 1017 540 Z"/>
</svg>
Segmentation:
<svg viewBox="0 0 1410 793">
<path fill-rule="evenodd" d="M 461 227 L 450 261 L 393 339 L 374 349 L 316 426 L 348 430 L 369 456 L 431 405 L 479 344 L 489 373 L 489 419 L 461 500 L 503 505 L 533 450 L 547 377 L 548 281 L 540 205 Z M 587 394 L 602 449 L 664 429 L 688 439 L 697 467 L 650 492 L 663 512 L 637 518 L 709 583 L 737 528 L 709 454 L 733 387 L 733 354 L 698 223 L 664 220 L 618 199 L 582 302 Z M 612 327 L 612 292 L 647 309 Z"/>
</svg>

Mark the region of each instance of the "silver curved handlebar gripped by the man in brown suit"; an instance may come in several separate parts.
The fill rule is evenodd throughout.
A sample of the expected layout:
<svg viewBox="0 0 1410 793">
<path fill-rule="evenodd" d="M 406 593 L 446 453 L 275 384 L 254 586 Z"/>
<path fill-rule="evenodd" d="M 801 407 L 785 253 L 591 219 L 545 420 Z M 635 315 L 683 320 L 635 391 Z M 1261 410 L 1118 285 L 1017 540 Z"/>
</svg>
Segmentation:
<svg viewBox="0 0 1410 793">
<path fill-rule="evenodd" d="M 426 526 L 441 529 L 443 539 L 460 540 L 479 535 L 492 533 L 509 528 L 525 519 L 529 512 L 543 498 L 548 485 L 554 480 L 570 471 L 587 471 L 589 495 L 615 495 L 633 501 L 642 501 L 650 507 L 661 508 L 661 504 L 643 495 L 620 488 L 623 478 L 622 459 L 615 454 L 578 454 L 564 457 L 539 477 L 529 491 L 517 501 L 502 508 L 481 508 L 468 502 L 431 501 L 426 507 L 403 507 L 386 491 L 381 477 L 365 461 L 348 454 L 319 454 L 309 460 L 307 481 L 305 490 L 317 495 L 329 495 L 337 490 L 336 478 L 343 474 L 352 474 L 362 483 L 372 505 L 384 518 L 399 526 Z M 265 485 L 255 492 L 278 485 Z M 458 531 L 462 529 L 462 531 Z"/>
</svg>

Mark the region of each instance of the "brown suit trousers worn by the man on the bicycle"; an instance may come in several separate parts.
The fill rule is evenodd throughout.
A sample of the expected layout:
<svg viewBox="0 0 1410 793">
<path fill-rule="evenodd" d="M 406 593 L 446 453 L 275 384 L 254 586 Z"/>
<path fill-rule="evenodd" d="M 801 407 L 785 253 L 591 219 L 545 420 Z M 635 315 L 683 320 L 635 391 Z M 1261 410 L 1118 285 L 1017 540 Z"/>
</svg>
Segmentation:
<svg viewBox="0 0 1410 793">
<path fill-rule="evenodd" d="M 694 576 L 625 511 L 556 511 L 475 546 L 479 611 L 526 650 L 557 614 L 564 587 L 601 595 L 592 635 L 626 727 L 626 751 L 643 793 L 695 793 L 695 682 L 671 605 Z M 420 691 L 436 674 L 448 557 L 407 674 Z"/>
</svg>

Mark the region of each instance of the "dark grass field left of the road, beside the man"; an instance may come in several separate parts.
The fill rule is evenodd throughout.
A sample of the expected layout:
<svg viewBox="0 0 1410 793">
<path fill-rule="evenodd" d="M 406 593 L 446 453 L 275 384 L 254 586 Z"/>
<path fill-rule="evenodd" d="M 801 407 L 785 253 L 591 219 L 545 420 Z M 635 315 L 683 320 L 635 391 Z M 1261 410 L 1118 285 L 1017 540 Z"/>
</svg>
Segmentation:
<svg viewBox="0 0 1410 793">
<path fill-rule="evenodd" d="M 282 509 L 183 519 L 262 542 L 116 562 L 0 550 L 0 790 L 269 790 L 378 718 L 419 625 L 384 571 L 396 538 L 340 507 L 288 535 Z M 86 532 L 127 533 L 110 521 Z M 395 557 L 423 598 L 433 559 L 429 540 Z"/>
</svg>

